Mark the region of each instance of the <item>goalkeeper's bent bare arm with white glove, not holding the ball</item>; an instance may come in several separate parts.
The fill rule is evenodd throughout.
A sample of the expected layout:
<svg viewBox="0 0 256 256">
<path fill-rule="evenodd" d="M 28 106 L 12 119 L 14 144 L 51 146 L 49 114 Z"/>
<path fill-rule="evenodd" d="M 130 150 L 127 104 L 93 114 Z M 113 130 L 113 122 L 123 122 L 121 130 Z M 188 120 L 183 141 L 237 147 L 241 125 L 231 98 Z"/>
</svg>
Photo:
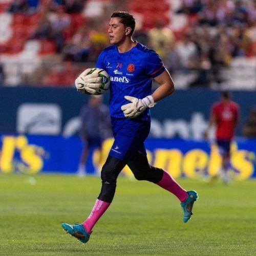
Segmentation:
<svg viewBox="0 0 256 256">
<path fill-rule="evenodd" d="M 140 115 L 145 109 L 152 108 L 157 101 L 167 97 L 174 92 L 174 82 L 169 72 L 165 69 L 163 73 L 155 77 L 154 80 L 159 84 L 158 89 L 143 99 L 132 96 L 124 96 L 131 103 L 121 106 L 121 110 L 125 117 L 134 118 Z"/>
</svg>

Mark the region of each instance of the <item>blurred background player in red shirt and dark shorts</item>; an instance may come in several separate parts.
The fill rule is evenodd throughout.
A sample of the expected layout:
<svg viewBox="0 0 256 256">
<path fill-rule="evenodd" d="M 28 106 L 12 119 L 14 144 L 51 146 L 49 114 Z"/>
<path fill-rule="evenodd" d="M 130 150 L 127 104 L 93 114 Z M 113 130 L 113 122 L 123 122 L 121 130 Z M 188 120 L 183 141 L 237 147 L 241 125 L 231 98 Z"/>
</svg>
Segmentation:
<svg viewBox="0 0 256 256">
<path fill-rule="evenodd" d="M 219 147 L 219 153 L 222 157 L 222 175 L 223 181 L 228 182 L 228 163 L 230 158 L 230 144 L 234 136 L 234 130 L 239 120 L 239 105 L 231 101 L 228 92 L 223 92 L 220 102 L 212 105 L 211 115 L 204 137 L 208 138 L 209 130 L 216 126 L 215 139 Z"/>
</svg>

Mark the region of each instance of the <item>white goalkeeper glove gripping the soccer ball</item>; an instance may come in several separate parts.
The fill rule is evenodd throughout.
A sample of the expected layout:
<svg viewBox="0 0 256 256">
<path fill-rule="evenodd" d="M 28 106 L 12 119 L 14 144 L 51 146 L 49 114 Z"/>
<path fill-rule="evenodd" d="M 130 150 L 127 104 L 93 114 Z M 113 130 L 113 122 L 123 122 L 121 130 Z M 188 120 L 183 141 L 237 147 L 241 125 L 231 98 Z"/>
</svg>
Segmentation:
<svg viewBox="0 0 256 256">
<path fill-rule="evenodd" d="M 102 77 L 98 73 L 88 73 L 92 69 L 84 70 L 75 80 L 75 86 L 77 91 L 81 93 L 98 95 L 95 88 L 100 88 Z"/>
</svg>

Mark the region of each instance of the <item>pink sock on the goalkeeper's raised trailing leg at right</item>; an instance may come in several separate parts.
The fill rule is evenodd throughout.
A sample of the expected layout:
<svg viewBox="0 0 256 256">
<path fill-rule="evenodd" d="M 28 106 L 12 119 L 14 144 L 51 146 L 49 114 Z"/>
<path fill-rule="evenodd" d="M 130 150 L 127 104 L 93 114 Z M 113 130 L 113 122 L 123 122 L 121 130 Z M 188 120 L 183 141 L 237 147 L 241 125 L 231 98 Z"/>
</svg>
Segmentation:
<svg viewBox="0 0 256 256">
<path fill-rule="evenodd" d="M 156 183 L 158 186 L 173 193 L 181 202 L 187 199 L 187 192 L 183 189 L 166 170 L 163 170 L 163 178 Z"/>
</svg>

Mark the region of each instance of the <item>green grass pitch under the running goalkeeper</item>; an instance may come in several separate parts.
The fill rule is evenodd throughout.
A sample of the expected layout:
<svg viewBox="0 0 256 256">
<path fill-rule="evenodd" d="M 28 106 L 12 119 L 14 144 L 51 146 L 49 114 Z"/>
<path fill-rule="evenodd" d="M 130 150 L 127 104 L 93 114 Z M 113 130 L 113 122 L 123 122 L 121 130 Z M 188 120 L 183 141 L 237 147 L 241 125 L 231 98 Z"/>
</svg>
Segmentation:
<svg viewBox="0 0 256 256">
<path fill-rule="evenodd" d="M 99 177 L 0 175 L 1 255 L 256 255 L 256 181 L 180 179 L 195 189 L 194 215 L 182 222 L 175 196 L 119 177 L 113 204 L 83 245 L 61 228 L 90 214 Z"/>
</svg>

